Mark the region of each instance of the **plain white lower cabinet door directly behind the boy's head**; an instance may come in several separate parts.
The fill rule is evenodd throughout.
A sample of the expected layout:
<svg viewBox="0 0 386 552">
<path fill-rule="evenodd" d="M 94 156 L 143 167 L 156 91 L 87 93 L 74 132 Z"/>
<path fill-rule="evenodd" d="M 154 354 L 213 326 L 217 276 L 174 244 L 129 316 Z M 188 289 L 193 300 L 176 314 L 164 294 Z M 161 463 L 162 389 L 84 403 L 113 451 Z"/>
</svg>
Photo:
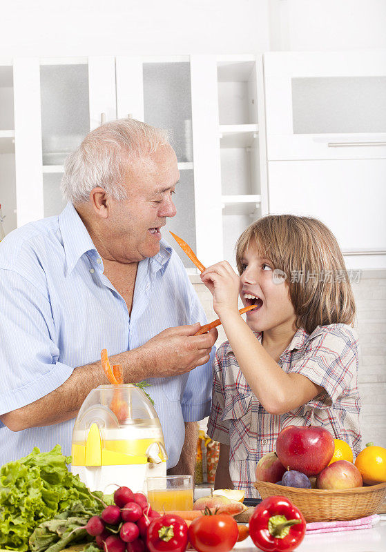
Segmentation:
<svg viewBox="0 0 386 552">
<path fill-rule="evenodd" d="M 386 159 L 270 161 L 268 171 L 270 213 L 316 217 L 356 252 L 355 268 L 385 268 Z"/>
</svg>

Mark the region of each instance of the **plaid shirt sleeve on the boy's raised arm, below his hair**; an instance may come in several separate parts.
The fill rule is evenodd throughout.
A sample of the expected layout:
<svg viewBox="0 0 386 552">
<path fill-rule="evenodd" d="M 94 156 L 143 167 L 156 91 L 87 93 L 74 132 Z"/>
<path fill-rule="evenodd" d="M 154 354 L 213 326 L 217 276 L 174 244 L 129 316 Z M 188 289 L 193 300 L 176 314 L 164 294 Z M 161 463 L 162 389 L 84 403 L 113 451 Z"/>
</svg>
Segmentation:
<svg viewBox="0 0 386 552">
<path fill-rule="evenodd" d="M 356 387 L 358 339 L 346 324 L 329 324 L 325 331 L 309 340 L 309 346 L 288 373 L 299 373 L 322 386 L 325 393 L 314 399 L 318 408 L 328 408 L 341 395 Z"/>
</svg>

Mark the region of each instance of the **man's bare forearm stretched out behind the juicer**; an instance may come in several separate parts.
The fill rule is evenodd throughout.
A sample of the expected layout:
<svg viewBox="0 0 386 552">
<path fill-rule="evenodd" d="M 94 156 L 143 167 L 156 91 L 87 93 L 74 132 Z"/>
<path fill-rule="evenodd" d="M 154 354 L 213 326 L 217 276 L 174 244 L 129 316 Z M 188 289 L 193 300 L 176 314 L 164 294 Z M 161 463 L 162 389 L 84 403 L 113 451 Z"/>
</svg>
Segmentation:
<svg viewBox="0 0 386 552">
<path fill-rule="evenodd" d="M 110 357 L 111 364 L 122 364 L 124 382 L 139 382 L 149 377 L 146 359 L 139 349 Z M 0 419 L 11 431 L 50 426 L 76 417 L 88 393 L 99 385 L 109 383 L 100 362 L 74 368 L 68 380 L 35 402 L 3 414 Z"/>
</svg>

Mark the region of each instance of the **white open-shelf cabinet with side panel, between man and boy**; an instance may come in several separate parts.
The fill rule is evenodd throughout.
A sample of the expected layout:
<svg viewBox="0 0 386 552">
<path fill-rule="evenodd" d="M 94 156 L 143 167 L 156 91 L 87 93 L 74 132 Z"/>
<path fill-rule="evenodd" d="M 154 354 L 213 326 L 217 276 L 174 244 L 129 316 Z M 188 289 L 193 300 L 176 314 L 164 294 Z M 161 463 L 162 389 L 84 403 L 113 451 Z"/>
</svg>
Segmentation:
<svg viewBox="0 0 386 552">
<path fill-rule="evenodd" d="M 191 79 L 197 255 L 235 265 L 236 239 L 267 213 L 262 59 L 192 56 Z"/>
</svg>

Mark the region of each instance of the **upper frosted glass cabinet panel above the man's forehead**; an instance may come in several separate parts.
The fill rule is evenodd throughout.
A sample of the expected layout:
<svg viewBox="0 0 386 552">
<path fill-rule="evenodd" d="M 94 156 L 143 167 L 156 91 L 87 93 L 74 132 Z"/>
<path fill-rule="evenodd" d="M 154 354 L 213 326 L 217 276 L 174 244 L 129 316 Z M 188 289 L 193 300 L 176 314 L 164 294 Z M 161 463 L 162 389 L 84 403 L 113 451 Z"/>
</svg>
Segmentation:
<svg viewBox="0 0 386 552">
<path fill-rule="evenodd" d="M 179 162 L 193 161 L 190 63 L 144 63 L 144 120 L 172 131 Z"/>
</svg>

